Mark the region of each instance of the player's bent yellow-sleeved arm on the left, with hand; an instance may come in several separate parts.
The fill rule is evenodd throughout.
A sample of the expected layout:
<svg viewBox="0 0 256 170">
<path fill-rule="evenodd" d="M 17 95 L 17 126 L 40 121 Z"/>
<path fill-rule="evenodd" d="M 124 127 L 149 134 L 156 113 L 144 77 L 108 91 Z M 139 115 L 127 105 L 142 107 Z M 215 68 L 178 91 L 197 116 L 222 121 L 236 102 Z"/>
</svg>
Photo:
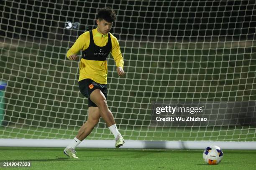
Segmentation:
<svg viewBox="0 0 256 170">
<path fill-rule="evenodd" d="M 84 48 L 85 34 L 80 35 L 72 47 L 67 51 L 67 58 L 69 60 L 76 60 L 77 53 Z"/>
</svg>

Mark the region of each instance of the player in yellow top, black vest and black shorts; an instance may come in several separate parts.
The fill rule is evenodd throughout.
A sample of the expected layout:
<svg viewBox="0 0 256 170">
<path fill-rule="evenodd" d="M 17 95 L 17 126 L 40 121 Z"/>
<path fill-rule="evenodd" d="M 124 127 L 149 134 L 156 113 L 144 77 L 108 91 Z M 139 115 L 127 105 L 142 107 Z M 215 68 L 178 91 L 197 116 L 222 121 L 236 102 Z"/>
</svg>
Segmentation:
<svg viewBox="0 0 256 170">
<path fill-rule="evenodd" d="M 77 158 L 75 148 L 93 130 L 102 117 L 115 137 L 115 147 L 123 145 L 124 139 L 119 133 L 112 112 L 107 104 L 107 57 L 111 52 L 117 73 L 124 75 L 123 57 L 116 37 L 109 31 L 116 19 L 115 11 L 105 7 L 98 11 L 97 28 L 84 32 L 68 50 L 69 60 L 76 60 L 77 52 L 82 50 L 79 63 L 79 90 L 88 97 L 88 120 L 79 129 L 74 140 L 64 149 L 64 154 Z"/>
</svg>

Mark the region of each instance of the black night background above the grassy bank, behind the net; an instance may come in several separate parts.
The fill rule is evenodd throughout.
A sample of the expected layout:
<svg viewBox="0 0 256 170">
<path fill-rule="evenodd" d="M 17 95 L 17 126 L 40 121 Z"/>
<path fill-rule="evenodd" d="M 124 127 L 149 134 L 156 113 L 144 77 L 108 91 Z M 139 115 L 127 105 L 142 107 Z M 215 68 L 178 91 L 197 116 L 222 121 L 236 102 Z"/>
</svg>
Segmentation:
<svg viewBox="0 0 256 170">
<path fill-rule="evenodd" d="M 1 1 L 0 35 L 45 39 L 56 32 L 69 35 L 69 30 L 64 30 L 66 21 L 81 23 L 81 34 L 95 27 L 97 10 L 105 6 L 116 11 L 112 32 L 122 40 L 255 39 L 255 0 Z"/>
</svg>

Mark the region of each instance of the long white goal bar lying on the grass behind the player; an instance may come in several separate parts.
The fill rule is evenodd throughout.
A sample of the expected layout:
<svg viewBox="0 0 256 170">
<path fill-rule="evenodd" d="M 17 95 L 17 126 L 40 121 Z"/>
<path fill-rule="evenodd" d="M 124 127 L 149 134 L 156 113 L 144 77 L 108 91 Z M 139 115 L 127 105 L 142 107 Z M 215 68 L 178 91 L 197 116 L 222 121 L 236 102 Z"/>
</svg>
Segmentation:
<svg viewBox="0 0 256 170">
<path fill-rule="evenodd" d="M 4 147 L 56 147 L 65 148 L 71 140 L 67 139 L 0 139 Z M 85 140 L 78 148 L 115 148 L 114 140 Z M 256 150 L 255 142 L 233 141 L 148 141 L 125 140 L 125 149 L 205 149 L 217 145 L 225 150 Z"/>
</svg>

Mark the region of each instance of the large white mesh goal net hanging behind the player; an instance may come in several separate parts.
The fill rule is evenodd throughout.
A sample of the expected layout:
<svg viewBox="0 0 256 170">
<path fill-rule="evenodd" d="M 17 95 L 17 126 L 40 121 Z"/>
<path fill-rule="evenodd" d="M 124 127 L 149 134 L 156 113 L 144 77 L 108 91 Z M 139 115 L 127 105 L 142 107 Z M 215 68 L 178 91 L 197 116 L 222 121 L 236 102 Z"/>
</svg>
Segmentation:
<svg viewBox="0 0 256 170">
<path fill-rule="evenodd" d="M 255 144 L 254 0 L 0 1 L 0 80 L 7 83 L 0 96 L 0 141 L 47 143 L 77 135 L 87 120 L 87 99 L 78 88 L 79 61 L 68 60 L 66 52 L 79 35 L 97 27 L 97 10 L 106 6 L 117 13 L 110 32 L 120 43 L 125 70 L 119 77 L 108 57 L 108 106 L 127 145 Z M 80 27 L 69 29 L 67 22 Z M 217 111 L 203 113 L 207 123 L 153 120 L 154 103 L 188 101 L 210 102 Z M 232 102 L 235 109 L 221 106 Z M 95 147 L 113 142 L 104 120 L 84 146 L 90 140 L 97 140 Z"/>
</svg>

